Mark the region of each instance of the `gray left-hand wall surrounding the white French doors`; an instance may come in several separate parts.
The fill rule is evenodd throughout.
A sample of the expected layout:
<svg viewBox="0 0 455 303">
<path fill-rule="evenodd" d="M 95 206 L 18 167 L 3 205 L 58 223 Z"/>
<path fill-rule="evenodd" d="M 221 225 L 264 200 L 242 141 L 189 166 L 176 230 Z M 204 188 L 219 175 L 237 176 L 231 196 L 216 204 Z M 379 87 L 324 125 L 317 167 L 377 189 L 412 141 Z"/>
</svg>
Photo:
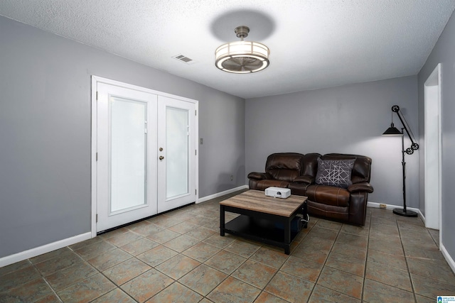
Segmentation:
<svg viewBox="0 0 455 303">
<path fill-rule="evenodd" d="M 244 99 L 4 17 L 0 45 L 0 258 L 90 231 L 91 75 L 198 100 L 199 197 L 245 184 Z"/>
</svg>

